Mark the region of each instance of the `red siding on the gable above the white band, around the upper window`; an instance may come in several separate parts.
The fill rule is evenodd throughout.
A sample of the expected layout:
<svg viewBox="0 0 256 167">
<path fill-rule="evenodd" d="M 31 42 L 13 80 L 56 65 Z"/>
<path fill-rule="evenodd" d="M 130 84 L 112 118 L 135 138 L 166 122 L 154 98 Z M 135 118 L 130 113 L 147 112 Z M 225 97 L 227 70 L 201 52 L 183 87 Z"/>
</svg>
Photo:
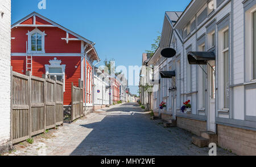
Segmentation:
<svg viewBox="0 0 256 167">
<path fill-rule="evenodd" d="M 11 53 L 26 53 L 26 41 L 28 31 L 32 31 L 34 27 L 18 27 L 11 29 Z M 44 49 L 46 53 L 81 53 L 81 41 L 69 41 L 68 44 L 65 40 L 67 32 L 57 27 L 38 27 L 40 31 L 44 31 L 45 36 Z M 71 35 L 69 35 L 71 37 Z"/>
</svg>

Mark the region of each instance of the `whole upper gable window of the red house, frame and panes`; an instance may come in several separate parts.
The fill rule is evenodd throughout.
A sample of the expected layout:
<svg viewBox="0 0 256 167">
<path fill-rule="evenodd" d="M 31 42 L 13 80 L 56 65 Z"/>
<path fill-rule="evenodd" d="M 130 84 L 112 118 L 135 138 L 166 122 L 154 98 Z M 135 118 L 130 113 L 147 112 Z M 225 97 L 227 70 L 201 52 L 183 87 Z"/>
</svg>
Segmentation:
<svg viewBox="0 0 256 167">
<path fill-rule="evenodd" d="M 28 53 L 45 53 L 44 50 L 44 36 L 46 33 L 40 31 L 38 28 L 35 28 L 33 31 L 28 31 Z"/>
</svg>

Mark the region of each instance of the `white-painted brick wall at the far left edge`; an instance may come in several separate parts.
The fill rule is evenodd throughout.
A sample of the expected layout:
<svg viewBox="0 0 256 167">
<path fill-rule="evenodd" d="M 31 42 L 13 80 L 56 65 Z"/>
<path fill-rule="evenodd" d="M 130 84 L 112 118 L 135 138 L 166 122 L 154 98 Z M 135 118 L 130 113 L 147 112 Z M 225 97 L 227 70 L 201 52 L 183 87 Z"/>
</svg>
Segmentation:
<svg viewBox="0 0 256 167">
<path fill-rule="evenodd" d="M 3 12 L 3 17 L 2 17 Z M 10 139 L 11 0 L 0 3 L 0 147 Z"/>
</svg>

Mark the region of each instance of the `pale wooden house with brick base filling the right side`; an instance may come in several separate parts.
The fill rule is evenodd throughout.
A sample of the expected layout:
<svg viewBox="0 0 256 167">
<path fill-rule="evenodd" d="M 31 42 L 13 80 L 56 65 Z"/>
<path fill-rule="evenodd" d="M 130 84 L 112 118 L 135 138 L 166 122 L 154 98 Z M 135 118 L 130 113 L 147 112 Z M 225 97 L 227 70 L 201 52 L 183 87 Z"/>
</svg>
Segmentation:
<svg viewBox="0 0 256 167">
<path fill-rule="evenodd" d="M 180 15 L 166 12 L 159 49 L 148 63 L 160 80 L 154 112 L 198 136 L 213 132 L 218 145 L 238 155 L 256 155 L 255 37 L 255 0 L 192 0 Z M 175 57 L 160 55 L 168 47 Z M 163 79 L 160 71 L 175 76 Z M 187 100 L 191 113 L 180 110 Z M 162 101 L 166 110 L 159 109 Z"/>
</svg>

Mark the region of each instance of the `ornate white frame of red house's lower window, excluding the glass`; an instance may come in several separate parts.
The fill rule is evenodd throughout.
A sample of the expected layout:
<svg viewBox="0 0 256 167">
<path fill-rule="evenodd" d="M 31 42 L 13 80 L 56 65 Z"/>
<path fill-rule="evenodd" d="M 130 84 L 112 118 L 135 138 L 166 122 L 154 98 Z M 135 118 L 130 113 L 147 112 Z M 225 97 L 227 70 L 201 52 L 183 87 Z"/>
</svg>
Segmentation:
<svg viewBox="0 0 256 167">
<path fill-rule="evenodd" d="M 49 60 L 50 65 L 44 65 L 46 67 L 46 75 L 62 75 L 63 76 L 63 91 L 65 92 L 65 68 L 66 65 L 60 65 L 61 60 L 56 57 L 53 60 Z M 49 68 L 61 68 L 62 73 L 49 73 Z"/>
</svg>

